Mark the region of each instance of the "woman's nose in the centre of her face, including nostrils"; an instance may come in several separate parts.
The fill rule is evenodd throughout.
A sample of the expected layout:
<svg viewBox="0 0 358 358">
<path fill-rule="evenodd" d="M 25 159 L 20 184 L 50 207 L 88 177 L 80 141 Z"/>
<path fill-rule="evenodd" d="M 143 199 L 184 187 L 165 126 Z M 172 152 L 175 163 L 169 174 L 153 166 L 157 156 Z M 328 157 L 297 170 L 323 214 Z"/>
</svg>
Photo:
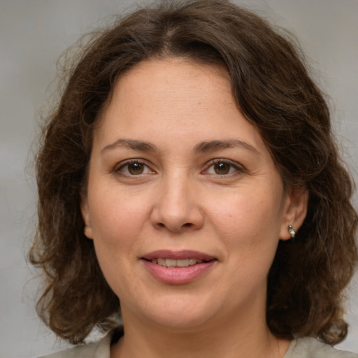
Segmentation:
<svg viewBox="0 0 358 358">
<path fill-rule="evenodd" d="M 158 192 L 150 217 L 154 227 L 180 233 L 203 226 L 199 194 L 189 178 L 168 178 Z"/>
</svg>

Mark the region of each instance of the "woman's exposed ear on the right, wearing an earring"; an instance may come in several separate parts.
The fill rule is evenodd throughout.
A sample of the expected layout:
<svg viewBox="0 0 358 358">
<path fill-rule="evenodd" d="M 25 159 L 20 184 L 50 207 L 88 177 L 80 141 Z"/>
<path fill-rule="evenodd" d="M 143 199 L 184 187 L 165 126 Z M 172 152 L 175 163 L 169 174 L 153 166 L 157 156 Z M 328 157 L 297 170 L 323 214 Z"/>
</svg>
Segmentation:
<svg viewBox="0 0 358 358">
<path fill-rule="evenodd" d="M 289 240 L 292 236 L 289 234 L 288 227 L 292 225 L 295 231 L 303 224 L 307 214 L 308 192 L 305 189 L 291 188 L 287 190 L 282 224 L 280 229 L 280 239 Z"/>
</svg>

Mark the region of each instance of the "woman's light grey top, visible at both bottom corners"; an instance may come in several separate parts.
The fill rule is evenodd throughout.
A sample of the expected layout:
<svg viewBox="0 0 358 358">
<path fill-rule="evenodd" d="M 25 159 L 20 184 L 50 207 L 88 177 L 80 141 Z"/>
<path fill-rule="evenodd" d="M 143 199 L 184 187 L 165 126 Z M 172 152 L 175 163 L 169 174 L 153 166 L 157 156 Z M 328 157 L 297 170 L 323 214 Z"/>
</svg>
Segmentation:
<svg viewBox="0 0 358 358">
<path fill-rule="evenodd" d="M 112 332 L 108 333 L 97 343 L 78 345 L 69 350 L 46 355 L 43 358 L 110 358 L 112 334 Z M 294 339 L 284 358 L 358 358 L 358 355 L 336 350 L 314 338 L 306 337 Z"/>
</svg>

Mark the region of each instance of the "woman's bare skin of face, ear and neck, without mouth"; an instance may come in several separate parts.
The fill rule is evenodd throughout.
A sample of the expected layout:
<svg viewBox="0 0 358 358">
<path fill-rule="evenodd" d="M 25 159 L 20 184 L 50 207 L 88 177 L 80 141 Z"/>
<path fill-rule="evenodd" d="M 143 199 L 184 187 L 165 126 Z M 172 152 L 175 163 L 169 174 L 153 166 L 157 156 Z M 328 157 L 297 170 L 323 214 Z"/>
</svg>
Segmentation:
<svg viewBox="0 0 358 358">
<path fill-rule="evenodd" d="M 111 357 L 283 357 L 289 342 L 266 326 L 266 280 L 306 206 L 306 192 L 284 191 L 224 69 L 152 59 L 122 75 L 94 130 L 82 202 L 121 302 L 125 335 Z M 164 249 L 215 262 L 193 282 L 166 284 L 141 260 Z"/>
</svg>

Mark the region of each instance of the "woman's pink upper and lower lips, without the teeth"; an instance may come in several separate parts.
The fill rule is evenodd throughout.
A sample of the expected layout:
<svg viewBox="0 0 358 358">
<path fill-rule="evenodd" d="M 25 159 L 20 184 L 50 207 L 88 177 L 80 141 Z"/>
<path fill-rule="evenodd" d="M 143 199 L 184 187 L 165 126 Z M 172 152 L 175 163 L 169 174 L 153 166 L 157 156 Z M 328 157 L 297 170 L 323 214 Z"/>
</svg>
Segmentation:
<svg viewBox="0 0 358 358">
<path fill-rule="evenodd" d="M 164 267 L 150 262 L 152 259 L 201 259 L 204 262 L 187 267 Z M 141 259 L 147 271 L 156 280 L 170 285 L 184 285 L 201 278 L 217 262 L 213 256 L 192 250 L 158 250 L 144 255 Z"/>
</svg>

